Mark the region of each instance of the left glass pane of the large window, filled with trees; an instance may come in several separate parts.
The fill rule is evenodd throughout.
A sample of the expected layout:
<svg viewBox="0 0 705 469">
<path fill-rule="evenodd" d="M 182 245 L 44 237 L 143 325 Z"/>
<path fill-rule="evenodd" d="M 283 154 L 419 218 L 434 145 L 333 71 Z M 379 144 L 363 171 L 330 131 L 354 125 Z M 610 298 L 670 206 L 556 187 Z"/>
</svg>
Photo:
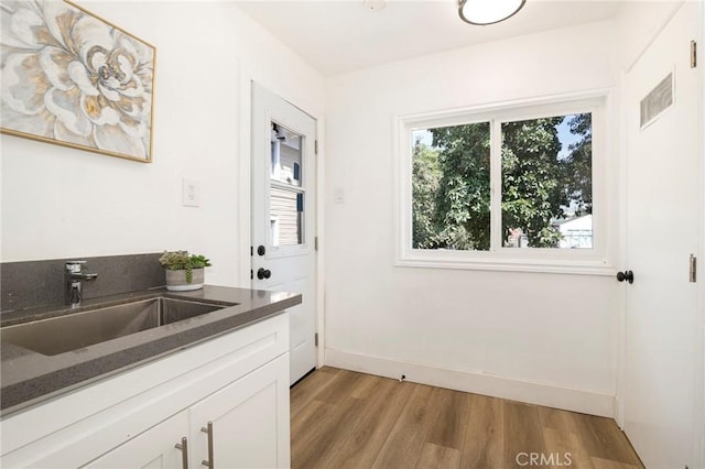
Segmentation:
<svg viewBox="0 0 705 469">
<path fill-rule="evenodd" d="M 413 249 L 490 248 L 490 124 L 412 132 Z"/>
</svg>

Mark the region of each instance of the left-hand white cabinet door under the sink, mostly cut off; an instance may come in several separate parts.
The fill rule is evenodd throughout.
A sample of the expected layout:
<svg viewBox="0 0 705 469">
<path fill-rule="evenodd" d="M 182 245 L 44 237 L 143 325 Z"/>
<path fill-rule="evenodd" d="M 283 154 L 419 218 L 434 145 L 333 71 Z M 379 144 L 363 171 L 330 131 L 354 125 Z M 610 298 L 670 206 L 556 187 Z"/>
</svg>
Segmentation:
<svg viewBox="0 0 705 469">
<path fill-rule="evenodd" d="M 86 468 L 182 468 L 176 444 L 188 434 L 188 411 L 183 411 L 102 455 Z"/>
</svg>

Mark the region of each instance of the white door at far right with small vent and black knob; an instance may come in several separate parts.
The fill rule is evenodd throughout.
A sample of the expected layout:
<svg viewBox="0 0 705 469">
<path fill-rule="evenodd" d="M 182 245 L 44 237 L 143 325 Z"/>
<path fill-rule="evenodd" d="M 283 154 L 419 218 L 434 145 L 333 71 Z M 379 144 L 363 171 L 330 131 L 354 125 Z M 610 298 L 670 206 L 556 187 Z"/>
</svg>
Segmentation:
<svg viewBox="0 0 705 469">
<path fill-rule="evenodd" d="M 702 2 L 685 2 L 625 77 L 626 268 L 633 271 L 633 283 L 625 282 L 622 397 L 625 432 L 648 468 L 703 463 L 695 450 L 703 437 L 696 425 L 703 400 L 696 392 L 702 313 L 697 284 L 688 279 L 690 257 L 702 249 L 702 75 L 690 61 L 702 19 Z"/>
</svg>

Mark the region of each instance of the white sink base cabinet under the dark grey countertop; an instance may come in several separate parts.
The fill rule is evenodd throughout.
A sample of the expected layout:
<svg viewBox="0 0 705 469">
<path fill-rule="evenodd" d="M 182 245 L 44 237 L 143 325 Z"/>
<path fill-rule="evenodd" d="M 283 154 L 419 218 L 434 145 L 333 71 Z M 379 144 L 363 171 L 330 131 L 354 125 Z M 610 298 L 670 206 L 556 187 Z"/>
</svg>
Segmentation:
<svg viewBox="0 0 705 469">
<path fill-rule="evenodd" d="M 281 314 L 3 418 L 0 467 L 289 467 L 289 425 Z"/>
</svg>

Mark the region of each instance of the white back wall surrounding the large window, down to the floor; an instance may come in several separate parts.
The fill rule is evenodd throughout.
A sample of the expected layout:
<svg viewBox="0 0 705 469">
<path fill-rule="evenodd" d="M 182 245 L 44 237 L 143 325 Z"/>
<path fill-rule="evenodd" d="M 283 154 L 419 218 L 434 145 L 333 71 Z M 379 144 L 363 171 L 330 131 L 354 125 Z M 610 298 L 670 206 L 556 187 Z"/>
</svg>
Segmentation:
<svg viewBox="0 0 705 469">
<path fill-rule="evenodd" d="M 393 266 L 392 162 L 395 116 L 617 86 L 615 30 L 593 23 L 328 79 L 327 363 L 612 415 L 614 277 Z"/>
</svg>

